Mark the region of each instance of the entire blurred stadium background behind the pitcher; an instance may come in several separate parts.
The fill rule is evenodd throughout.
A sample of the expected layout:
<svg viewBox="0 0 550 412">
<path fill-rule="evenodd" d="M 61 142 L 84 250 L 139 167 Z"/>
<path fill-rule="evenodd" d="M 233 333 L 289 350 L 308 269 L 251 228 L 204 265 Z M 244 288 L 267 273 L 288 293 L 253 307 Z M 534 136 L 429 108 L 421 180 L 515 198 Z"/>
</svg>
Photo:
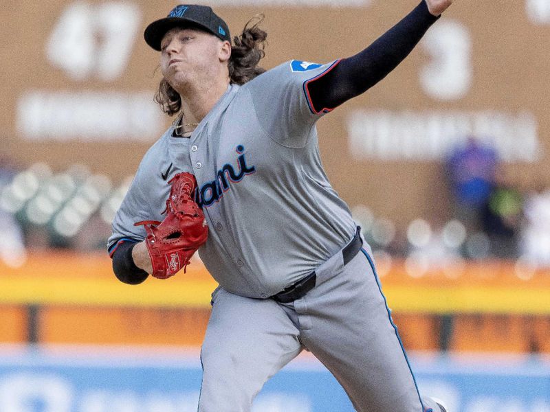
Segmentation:
<svg viewBox="0 0 550 412">
<path fill-rule="evenodd" d="M 0 411 L 194 411 L 215 283 L 195 258 L 126 286 L 106 251 L 170 124 L 142 32 L 176 3 L 3 4 Z M 270 68 L 350 56 L 417 1 L 208 4 L 234 35 L 265 13 Z M 550 0 L 456 0 L 388 78 L 318 124 L 419 386 L 450 412 L 550 411 L 549 41 Z M 254 411 L 352 408 L 305 354 Z"/>
</svg>

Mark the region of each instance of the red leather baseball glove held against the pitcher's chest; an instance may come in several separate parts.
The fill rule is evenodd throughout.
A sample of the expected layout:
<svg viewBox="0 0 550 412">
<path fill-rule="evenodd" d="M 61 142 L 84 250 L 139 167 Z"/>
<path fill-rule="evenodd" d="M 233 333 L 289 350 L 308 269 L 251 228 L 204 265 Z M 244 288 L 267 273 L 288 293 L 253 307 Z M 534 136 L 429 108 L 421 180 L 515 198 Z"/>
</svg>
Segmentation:
<svg viewBox="0 0 550 412">
<path fill-rule="evenodd" d="M 143 220 L 134 225 L 144 225 L 145 238 L 153 275 L 167 279 L 185 268 L 190 258 L 208 238 L 208 226 L 204 214 L 193 200 L 197 189 L 195 176 L 183 172 L 176 174 L 168 184 L 172 185 L 166 201 L 166 218 Z"/>
</svg>

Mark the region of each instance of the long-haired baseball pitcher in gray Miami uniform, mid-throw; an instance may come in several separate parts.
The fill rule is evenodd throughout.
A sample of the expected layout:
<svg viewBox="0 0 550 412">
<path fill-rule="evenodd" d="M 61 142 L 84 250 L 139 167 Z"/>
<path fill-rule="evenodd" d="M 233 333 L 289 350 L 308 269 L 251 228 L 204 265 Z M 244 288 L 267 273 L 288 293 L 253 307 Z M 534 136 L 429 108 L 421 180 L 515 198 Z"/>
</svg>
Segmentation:
<svg viewBox="0 0 550 412">
<path fill-rule="evenodd" d="M 108 247 L 127 284 L 173 276 L 197 250 L 219 283 L 199 411 L 250 411 L 308 350 L 357 411 L 447 412 L 419 394 L 371 249 L 322 168 L 316 122 L 390 73 L 451 3 L 422 0 L 355 56 L 268 71 L 260 19 L 232 38 L 210 7 L 178 5 L 146 27 L 156 100 L 177 118 L 142 159 Z"/>
</svg>

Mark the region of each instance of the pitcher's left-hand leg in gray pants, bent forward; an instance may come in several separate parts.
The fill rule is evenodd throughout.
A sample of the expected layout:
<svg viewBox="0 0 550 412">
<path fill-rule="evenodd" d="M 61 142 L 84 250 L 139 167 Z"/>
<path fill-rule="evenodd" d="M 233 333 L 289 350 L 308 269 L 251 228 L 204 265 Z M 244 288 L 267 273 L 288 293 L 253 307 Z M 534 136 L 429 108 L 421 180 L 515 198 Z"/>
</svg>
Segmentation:
<svg viewBox="0 0 550 412">
<path fill-rule="evenodd" d="M 299 352 L 298 330 L 276 302 L 218 290 L 201 351 L 199 411 L 250 411 L 264 383 Z"/>
</svg>

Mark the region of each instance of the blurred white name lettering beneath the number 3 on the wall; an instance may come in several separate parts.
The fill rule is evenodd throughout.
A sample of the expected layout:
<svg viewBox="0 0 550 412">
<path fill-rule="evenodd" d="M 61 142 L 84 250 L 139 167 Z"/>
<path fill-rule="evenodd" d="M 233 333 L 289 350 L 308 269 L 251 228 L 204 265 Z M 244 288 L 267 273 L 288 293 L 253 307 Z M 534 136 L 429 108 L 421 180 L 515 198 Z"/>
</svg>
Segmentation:
<svg viewBox="0 0 550 412">
<path fill-rule="evenodd" d="M 469 135 L 493 146 L 502 161 L 542 157 L 537 120 L 529 112 L 353 111 L 347 130 L 355 159 L 439 161 Z"/>
</svg>

